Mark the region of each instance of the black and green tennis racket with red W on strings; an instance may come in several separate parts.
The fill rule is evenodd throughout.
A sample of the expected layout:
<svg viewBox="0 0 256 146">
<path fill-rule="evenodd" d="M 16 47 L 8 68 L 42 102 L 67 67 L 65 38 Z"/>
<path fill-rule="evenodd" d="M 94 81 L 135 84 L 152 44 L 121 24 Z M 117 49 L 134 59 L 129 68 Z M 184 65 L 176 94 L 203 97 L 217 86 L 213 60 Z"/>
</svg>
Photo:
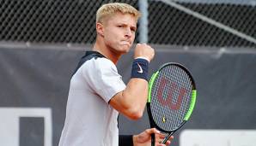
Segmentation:
<svg viewBox="0 0 256 146">
<path fill-rule="evenodd" d="M 149 123 L 151 128 L 168 133 L 162 143 L 189 120 L 196 95 L 192 74 L 179 63 L 166 63 L 151 76 L 147 102 Z M 151 145 L 155 146 L 155 134 L 151 135 Z"/>
</svg>

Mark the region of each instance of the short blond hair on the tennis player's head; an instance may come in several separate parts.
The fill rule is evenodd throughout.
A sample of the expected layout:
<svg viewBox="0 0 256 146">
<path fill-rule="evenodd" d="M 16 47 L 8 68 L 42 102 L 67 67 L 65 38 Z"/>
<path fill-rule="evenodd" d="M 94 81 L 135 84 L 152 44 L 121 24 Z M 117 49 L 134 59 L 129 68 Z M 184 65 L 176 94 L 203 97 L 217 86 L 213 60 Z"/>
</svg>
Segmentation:
<svg viewBox="0 0 256 146">
<path fill-rule="evenodd" d="M 103 4 L 100 9 L 97 10 L 96 22 L 102 22 L 104 18 L 107 18 L 116 13 L 133 15 L 136 20 L 141 16 L 141 13 L 127 3 L 107 3 Z"/>
</svg>

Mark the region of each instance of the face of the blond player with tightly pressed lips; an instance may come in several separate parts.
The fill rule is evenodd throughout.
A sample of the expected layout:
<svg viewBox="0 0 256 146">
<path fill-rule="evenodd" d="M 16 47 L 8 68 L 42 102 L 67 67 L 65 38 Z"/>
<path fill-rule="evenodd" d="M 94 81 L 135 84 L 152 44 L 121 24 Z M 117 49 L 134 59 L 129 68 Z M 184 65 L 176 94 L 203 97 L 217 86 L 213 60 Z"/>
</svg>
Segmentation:
<svg viewBox="0 0 256 146">
<path fill-rule="evenodd" d="M 104 43 L 117 54 L 127 53 L 135 38 L 137 20 L 133 15 L 117 13 L 103 23 Z"/>
</svg>

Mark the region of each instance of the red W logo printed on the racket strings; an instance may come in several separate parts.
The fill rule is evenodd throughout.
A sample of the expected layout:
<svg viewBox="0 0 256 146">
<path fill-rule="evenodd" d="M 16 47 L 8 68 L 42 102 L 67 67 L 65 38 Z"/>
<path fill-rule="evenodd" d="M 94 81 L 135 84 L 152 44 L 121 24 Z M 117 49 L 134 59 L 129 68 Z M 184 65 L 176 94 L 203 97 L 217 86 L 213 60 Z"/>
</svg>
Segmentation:
<svg viewBox="0 0 256 146">
<path fill-rule="evenodd" d="M 168 106 L 171 109 L 178 110 L 180 109 L 180 105 L 183 99 L 183 96 L 186 95 L 186 89 L 185 88 L 177 88 L 177 85 L 174 82 L 169 82 L 168 79 L 162 78 L 160 81 L 160 89 L 157 92 L 157 99 L 158 102 L 160 102 L 163 106 Z M 166 92 L 166 97 L 163 95 L 163 90 L 165 88 L 169 88 L 170 90 Z M 178 99 L 174 102 L 174 92 L 178 91 Z"/>
</svg>

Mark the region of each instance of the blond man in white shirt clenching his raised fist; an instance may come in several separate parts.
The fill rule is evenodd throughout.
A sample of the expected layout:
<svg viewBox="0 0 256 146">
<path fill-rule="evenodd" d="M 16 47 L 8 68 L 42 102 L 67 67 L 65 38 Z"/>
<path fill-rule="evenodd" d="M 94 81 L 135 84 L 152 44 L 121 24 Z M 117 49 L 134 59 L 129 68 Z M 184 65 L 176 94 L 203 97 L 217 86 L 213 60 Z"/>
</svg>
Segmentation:
<svg viewBox="0 0 256 146">
<path fill-rule="evenodd" d="M 149 45 L 137 44 L 127 85 L 115 66 L 133 44 L 139 15 L 137 9 L 125 3 L 108 3 L 98 9 L 93 51 L 82 57 L 70 80 L 59 146 L 151 145 L 152 133 L 156 145 L 164 145 L 159 143 L 164 135 L 155 129 L 119 137 L 118 114 L 131 120 L 141 118 L 148 94 L 148 65 L 154 57 Z"/>
</svg>

